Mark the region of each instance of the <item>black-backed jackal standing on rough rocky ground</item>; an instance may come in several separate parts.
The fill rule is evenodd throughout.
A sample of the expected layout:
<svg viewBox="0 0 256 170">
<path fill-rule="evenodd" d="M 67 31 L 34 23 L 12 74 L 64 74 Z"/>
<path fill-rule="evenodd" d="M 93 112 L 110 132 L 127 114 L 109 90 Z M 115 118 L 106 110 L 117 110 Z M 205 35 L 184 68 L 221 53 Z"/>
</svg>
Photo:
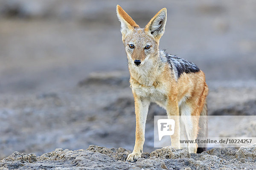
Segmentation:
<svg viewBox="0 0 256 170">
<path fill-rule="evenodd" d="M 145 28 L 140 28 L 119 5 L 116 12 L 121 22 L 135 100 L 136 140 L 127 160 L 133 162 L 141 156 L 151 102 L 165 108 L 168 117 L 175 119 L 175 133 L 171 137 L 173 147 L 186 148 L 190 153 L 202 152 L 205 148 L 199 148 L 197 144 L 181 145 L 180 132 L 184 130 L 189 140 L 200 135 L 207 137 L 207 119 L 201 127 L 199 121 L 200 116 L 207 115 L 208 87 L 204 72 L 195 64 L 159 49 L 159 40 L 166 25 L 166 8 L 161 9 Z M 181 120 L 179 115 L 188 117 Z M 182 122 L 184 127 L 180 127 Z"/>
</svg>

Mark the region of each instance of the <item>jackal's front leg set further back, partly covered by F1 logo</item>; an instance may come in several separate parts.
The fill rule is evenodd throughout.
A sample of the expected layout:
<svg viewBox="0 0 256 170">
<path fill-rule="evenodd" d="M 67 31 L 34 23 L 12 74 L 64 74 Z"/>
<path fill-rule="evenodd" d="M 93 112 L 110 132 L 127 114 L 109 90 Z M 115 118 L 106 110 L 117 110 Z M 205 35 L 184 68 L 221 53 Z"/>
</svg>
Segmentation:
<svg viewBox="0 0 256 170">
<path fill-rule="evenodd" d="M 177 99 L 169 99 L 166 107 L 168 119 L 175 120 L 174 134 L 171 136 L 172 146 L 180 149 L 180 116 Z"/>
</svg>

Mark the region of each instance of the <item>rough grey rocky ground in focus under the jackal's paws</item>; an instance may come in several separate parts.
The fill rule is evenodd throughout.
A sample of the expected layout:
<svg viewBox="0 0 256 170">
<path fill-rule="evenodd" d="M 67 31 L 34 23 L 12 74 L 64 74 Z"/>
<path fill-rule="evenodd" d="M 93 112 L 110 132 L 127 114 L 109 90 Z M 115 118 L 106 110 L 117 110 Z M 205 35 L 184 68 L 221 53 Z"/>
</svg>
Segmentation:
<svg viewBox="0 0 256 170">
<path fill-rule="evenodd" d="M 163 147 L 143 153 L 135 163 L 125 161 L 130 150 L 90 145 L 87 150 L 56 149 L 41 156 L 14 152 L 0 161 L 0 170 L 55 169 L 55 170 L 215 170 L 247 169 L 256 167 L 256 144 L 233 148 L 213 148 L 201 154 Z"/>
</svg>

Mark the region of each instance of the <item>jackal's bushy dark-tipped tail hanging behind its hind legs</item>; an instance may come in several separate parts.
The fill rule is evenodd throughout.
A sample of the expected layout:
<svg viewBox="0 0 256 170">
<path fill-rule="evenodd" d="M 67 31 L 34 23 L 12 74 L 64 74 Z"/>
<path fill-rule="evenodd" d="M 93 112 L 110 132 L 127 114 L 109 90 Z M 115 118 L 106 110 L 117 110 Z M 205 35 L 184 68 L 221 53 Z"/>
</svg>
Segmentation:
<svg viewBox="0 0 256 170">
<path fill-rule="evenodd" d="M 207 102 L 204 104 L 204 108 L 200 114 L 199 118 L 199 131 L 198 131 L 198 138 L 204 140 L 208 137 L 208 118 L 207 118 Z M 198 144 L 198 149 L 196 153 L 202 153 L 206 151 L 207 144 Z"/>
</svg>

